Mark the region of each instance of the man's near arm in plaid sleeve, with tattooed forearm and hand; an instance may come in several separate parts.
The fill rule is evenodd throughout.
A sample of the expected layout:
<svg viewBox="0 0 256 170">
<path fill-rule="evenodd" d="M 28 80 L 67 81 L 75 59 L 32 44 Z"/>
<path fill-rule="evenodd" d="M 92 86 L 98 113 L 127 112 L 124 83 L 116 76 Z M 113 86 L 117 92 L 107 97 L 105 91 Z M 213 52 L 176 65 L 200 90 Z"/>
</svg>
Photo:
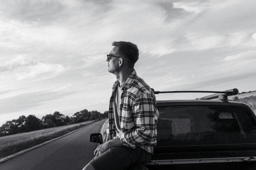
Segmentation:
<svg viewBox="0 0 256 170">
<path fill-rule="evenodd" d="M 99 156 L 108 149 L 119 146 L 128 148 L 138 148 L 144 145 L 154 136 L 155 130 L 155 98 L 151 94 L 141 94 L 133 103 L 132 111 L 137 129 L 134 132 L 122 133 L 119 138 L 112 139 L 97 147 L 94 151 L 95 156 Z M 107 131 L 108 132 L 108 131 Z"/>
</svg>

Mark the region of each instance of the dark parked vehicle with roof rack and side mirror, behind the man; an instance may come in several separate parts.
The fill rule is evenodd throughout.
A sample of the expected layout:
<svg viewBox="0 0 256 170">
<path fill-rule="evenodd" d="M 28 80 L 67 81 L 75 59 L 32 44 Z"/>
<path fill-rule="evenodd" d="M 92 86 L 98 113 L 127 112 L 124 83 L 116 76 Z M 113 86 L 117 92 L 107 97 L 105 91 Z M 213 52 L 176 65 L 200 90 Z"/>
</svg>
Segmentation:
<svg viewBox="0 0 256 170">
<path fill-rule="evenodd" d="M 231 89 L 195 100 L 157 101 L 157 145 L 146 168 L 256 169 L 256 116 L 246 104 L 228 100 L 237 93 Z M 90 141 L 102 143 L 102 136 L 95 137 Z"/>
</svg>

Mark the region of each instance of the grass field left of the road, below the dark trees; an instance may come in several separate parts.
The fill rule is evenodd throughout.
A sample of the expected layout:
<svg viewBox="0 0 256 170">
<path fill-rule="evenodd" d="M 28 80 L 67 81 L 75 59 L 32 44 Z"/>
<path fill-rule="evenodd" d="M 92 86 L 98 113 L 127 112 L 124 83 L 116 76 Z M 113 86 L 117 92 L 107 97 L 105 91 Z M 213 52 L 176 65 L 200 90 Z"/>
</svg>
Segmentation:
<svg viewBox="0 0 256 170">
<path fill-rule="evenodd" d="M 95 120 L 0 137 L 0 159 L 60 137 L 93 122 Z"/>
</svg>

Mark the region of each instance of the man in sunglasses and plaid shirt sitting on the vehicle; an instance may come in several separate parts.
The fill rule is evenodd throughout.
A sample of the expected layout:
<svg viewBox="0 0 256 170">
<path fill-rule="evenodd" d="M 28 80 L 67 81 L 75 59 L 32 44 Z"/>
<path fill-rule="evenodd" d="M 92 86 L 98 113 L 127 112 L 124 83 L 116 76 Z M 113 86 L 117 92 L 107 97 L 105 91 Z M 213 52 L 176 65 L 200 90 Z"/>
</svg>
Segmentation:
<svg viewBox="0 0 256 170">
<path fill-rule="evenodd" d="M 134 70 L 139 58 L 137 45 L 119 41 L 112 46 L 107 55 L 108 71 L 117 80 L 110 98 L 108 141 L 95 149 L 95 158 L 83 170 L 122 170 L 145 164 L 156 145 L 159 113 L 154 92 Z"/>
</svg>

